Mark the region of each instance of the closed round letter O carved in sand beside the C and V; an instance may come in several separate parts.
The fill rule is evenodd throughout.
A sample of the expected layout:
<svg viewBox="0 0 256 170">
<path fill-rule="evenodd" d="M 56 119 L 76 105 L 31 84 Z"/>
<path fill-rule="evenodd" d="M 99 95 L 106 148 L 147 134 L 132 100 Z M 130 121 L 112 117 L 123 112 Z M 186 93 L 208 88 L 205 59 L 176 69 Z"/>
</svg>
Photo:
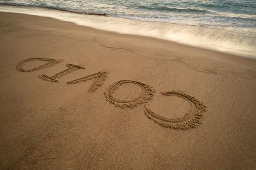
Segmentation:
<svg viewBox="0 0 256 170">
<path fill-rule="evenodd" d="M 133 83 L 133 84 L 138 85 L 142 89 L 142 93 L 138 97 L 136 97 L 132 100 L 127 100 L 127 101 L 114 98 L 113 94 L 114 94 L 115 90 L 117 90 L 121 85 L 123 85 L 125 83 Z M 105 92 L 105 96 L 107 98 L 107 101 L 111 102 L 115 106 L 133 108 L 133 107 L 138 106 L 139 104 L 143 104 L 143 103 L 146 103 L 147 101 L 151 100 L 154 96 L 153 93 L 155 93 L 155 90 L 152 87 L 150 87 L 149 85 L 146 85 L 144 83 L 136 82 L 133 80 L 120 80 L 120 81 L 114 83 L 113 85 L 109 86 L 109 88 Z"/>
</svg>

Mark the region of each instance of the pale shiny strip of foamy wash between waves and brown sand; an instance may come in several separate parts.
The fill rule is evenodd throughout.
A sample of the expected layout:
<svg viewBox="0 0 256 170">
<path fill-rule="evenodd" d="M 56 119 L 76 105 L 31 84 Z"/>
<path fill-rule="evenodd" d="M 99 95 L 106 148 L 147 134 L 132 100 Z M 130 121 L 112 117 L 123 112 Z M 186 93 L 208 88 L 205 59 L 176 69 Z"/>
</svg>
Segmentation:
<svg viewBox="0 0 256 170">
<path fill-rule="evenodd" d="M 65 11 L 37 8 L 0 6 L 0 11 L 51 17 L 78 25 L 122 34 L 149 36 L 187 45 L 256 58 L 256 37 L 221 29 L 200 26 L 129 20 L 115 17 L 93 16 Z"/>
</svg>

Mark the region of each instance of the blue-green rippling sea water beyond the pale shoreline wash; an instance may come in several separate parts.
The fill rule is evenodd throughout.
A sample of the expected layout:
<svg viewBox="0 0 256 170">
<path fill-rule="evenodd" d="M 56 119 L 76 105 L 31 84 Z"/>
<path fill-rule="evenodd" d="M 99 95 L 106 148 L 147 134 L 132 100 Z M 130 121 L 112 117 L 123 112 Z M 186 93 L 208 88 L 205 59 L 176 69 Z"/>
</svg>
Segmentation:
<svg viewBox="0 0 256 170">
<path fill-rule="evenodd" d="M 256 28 L 256 0 L 0 0 L 0 3 L 142 21 Z"/>
</svg>

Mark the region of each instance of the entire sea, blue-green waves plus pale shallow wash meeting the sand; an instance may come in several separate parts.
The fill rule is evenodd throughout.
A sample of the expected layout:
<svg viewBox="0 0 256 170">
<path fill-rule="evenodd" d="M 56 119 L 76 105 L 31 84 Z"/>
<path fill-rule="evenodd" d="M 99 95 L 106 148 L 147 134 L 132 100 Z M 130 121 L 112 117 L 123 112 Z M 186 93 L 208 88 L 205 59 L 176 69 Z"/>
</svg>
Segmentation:
<svg viewBox="0 0 256 170">
<path fill-rule="evenodd" d="M 256 58 L 256 0 L 0 0 L 0 4 L 0 11 Z"/>
</svg>

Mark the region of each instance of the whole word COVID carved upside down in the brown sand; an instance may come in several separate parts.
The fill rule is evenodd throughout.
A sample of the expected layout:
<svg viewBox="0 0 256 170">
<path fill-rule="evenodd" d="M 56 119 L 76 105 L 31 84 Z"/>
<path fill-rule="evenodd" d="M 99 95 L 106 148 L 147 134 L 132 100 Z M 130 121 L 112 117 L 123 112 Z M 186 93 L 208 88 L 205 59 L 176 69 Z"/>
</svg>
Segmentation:
<svg viewBox="0 0 256 170">
<path fill-rule="evenodd" d="M 28 62 L 33 62 L 33 61 L 41 61 L 44 64 L 41 64 L 39 66 L 36 66 L 34 68 L 30 69 L 25 69 L 24 65 Z M 37 71 L 41 70 L 44 68 L 48 68 L 50 66 L 54 66 L 60 62 L 63 62 L 62 59 L 51 59 L 51 58 L 29 58 L 26 60 L 21 61 L 16 69 L 22 72 L 32 72 L 32 71 Z M 35 64 L 35 63 L 33 63 Z M 51 76 L 46 75 L 46 74 L 41 74 L 39 75 L 39 78 L 45 81 L 50 81 L 50 82 L 55 82 L 58 83 L 59 77 L 65 76 L 67 74 L 70 74 L 78 69 L 86 69 L 82 66 L 79 65 L 74 65 L 74 64 L 66 64 L 67 69 L 60 71 L 58 73 L 55 73 Z M 76 84 L 80 82 L 87 82 L 89 80 L 92 80 L 92 84 L 89 88 L 88 92 L 94 92 L 96 91 L 100 86 L 102 86 L 107 78 L 107 75 L 109 74 L 108 71 L 106 70 L 101 70 L 97 73 L 93 73 L 90 75 L 86 75 L 84 77 L 68 81 L 67 84 Z M 121 86 L 123 85 L 136 85 L 138 86 L 141 90 L 139 94 L 136 94 L 136 97 L 128 100 L 121 100 L 118 99 L 114 93 L 117 91 Z M 159 125 L 166 127 L 166 128 L 171 128 L 171 129 L 180 129 L 180 130 L 187 130 L 191 128 L 195 128 L 198 124 L 201 124 L 200 119 L 203 117 L 203 112 L 206 112 L 206 106 L 198 101 L 196 98 L 179 92 L 179 91 L 165 91 L 161 92 L 162 95 L 164 96 L 176 96 L 179 98 L 182 98 L 189 102 L 190 108 L 187 113 L 185 113 L 183 116 L 179 118 L 165 118 L 163 116 L 158 115 L 154 111 L 152 111 L 148 106 L 145 105 L 148 101 L 152 100 L 154 97 L 154 93 L 156 91 L 154 90 L 153 87 L 144 84 L 142 82 L 138 81 L 133 81 L 133 80 L 119 80 L 112 85 L 110 85 L 106 91 L 105 91 L 105 97 L 108 102 L 112 103 L 113 105 L 117 107 L 128 107 L 128 108 L 134 108 L 139 105 L 144 104 L 144 113 L 145 115 L 153 120 L 155 123 L 158 123 Z M 131 93 L 133 94 L 133 93 Z"/>
</svg>

